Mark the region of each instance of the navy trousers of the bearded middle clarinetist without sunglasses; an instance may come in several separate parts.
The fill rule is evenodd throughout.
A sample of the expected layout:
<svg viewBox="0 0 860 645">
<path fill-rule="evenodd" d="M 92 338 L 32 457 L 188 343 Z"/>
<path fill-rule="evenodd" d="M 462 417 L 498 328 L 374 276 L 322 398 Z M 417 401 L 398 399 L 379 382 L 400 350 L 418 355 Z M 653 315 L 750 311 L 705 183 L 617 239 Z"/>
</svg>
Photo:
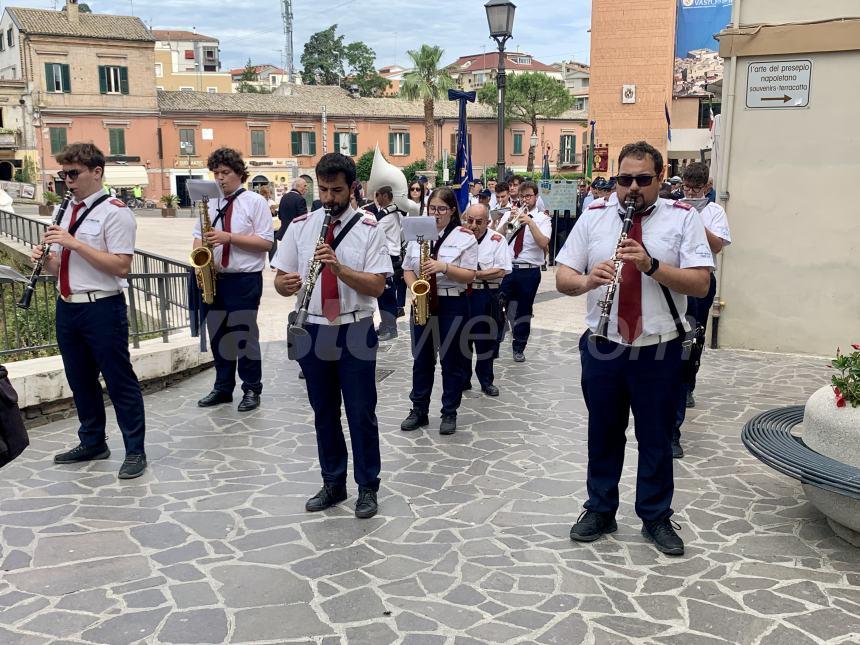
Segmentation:
<svg viewBox="0 0 860 645">
<path fill-rule="evenodd" d="M 373 317 L 348 325 L 308 324 L 307 330 L 310 351 L 304 352 L 298 361 L 314 411 L 323 481 L 330 485 L 346 483 L 348 454 L 340 420 L 343 403 L 352 443 L 355 482 L 379 490 L 378 342 Z"/>
</svg>

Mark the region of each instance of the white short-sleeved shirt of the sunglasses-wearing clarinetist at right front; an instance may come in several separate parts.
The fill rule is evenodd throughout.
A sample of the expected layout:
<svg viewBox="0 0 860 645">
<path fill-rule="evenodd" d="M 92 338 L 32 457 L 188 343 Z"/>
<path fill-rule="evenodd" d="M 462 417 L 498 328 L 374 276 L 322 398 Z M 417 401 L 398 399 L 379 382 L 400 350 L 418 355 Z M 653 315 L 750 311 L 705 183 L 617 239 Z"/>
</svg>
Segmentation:
<svg viewBox="0 0 860 645">
<path fill-rule="evenodd" d="M 621 235 L 623 212 L 615 203 L 595 201 L 586 210 L 570 232 L 556 262 L 569 266 L 581 274 L 587 274 L 595 265 L 609 260 Z M 651 257 L 661 264 L 679 267 L 713 267 L 711 249 L 705 236 L 702 218 L 688 204 L 658 199 L 654 211 L 642 220 L 642 242 Z M 669 311 L 663 291 L 654 278 L 640 273 L 642 280 L 642 335 L 654 336 L 676 331 L 675 321 Z M 618 334 L 618 303 L 623 284 L 618 285 L 609 317 L 609 338 L 622 343 Z M 588 292 L 585 323 L 594 331 L 600 320 L 598 301 L 606 294 L 601 286 Z M 686 320 L 687 296 L 670 291 L 678 315 Z"/>
</svg>

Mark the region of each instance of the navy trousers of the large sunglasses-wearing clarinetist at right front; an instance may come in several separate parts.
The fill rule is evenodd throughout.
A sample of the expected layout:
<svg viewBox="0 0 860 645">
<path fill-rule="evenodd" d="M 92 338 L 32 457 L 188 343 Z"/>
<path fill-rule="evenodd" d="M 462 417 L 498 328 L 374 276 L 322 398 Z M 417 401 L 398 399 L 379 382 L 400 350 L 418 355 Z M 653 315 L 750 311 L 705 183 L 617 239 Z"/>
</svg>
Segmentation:
<svg viewBox="0 0 860 645">
<path fill-rule="evenodd" d="M 676 338 L 650 347 L 579 340 L 582 394 L 588 408 L 588 501 L 585 508 L 614 514 L 624 466 L 627 425 L 633 411 L 639 464 L 636 514 L 643 520 L 672 515 L 671 427 L 681 381 Z"/>
</svg>

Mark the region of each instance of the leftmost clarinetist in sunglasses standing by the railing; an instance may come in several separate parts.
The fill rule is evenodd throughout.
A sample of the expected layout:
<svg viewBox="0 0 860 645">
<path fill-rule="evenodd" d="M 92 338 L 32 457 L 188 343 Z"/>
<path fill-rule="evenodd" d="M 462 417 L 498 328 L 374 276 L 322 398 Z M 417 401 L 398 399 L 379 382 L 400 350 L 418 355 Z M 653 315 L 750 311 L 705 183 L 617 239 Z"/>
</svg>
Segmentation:
<svg viewBox="0 0 860 645">
<path fill-rule="evenodd" d="M 123 289 L 134 257 L 134 215 L 102 186 L 105 157 L 91 143 L 73 143 L 56 157 L 58 173 L 73 198 L 59 226 L 44 241 L 53 245 L 44 271 L 58 277 L 57 344 L 72 388 L 80 444 L 54 457 L 56 464 L 107 459 L 104 377 L 125 444 L 120 479 L 146 469 L 146 419 L 140 383 L 128 352 L 128 317 Z M 31 257 L 42 256 L 41 246 Z"/>
</svg>

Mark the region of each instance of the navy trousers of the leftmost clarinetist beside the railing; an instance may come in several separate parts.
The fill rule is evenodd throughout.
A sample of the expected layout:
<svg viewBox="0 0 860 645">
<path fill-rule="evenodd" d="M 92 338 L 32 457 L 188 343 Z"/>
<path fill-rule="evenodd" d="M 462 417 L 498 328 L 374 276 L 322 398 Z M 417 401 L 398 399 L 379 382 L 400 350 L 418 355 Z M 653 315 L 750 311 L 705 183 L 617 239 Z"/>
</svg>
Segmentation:
<svg viewBox="0 0 860 645">
<path fill-rule="evenodd" d="M 81 444 L 93 448 L 105 443 L 101 373 L 126 454 L 145 454 L 146 418 L 140 382 L 128 353 L 125 296 L 119 294 L 87 303 L 68 303 L 58 298 L 57 343 L 78 411 Z"/>
</svg>

